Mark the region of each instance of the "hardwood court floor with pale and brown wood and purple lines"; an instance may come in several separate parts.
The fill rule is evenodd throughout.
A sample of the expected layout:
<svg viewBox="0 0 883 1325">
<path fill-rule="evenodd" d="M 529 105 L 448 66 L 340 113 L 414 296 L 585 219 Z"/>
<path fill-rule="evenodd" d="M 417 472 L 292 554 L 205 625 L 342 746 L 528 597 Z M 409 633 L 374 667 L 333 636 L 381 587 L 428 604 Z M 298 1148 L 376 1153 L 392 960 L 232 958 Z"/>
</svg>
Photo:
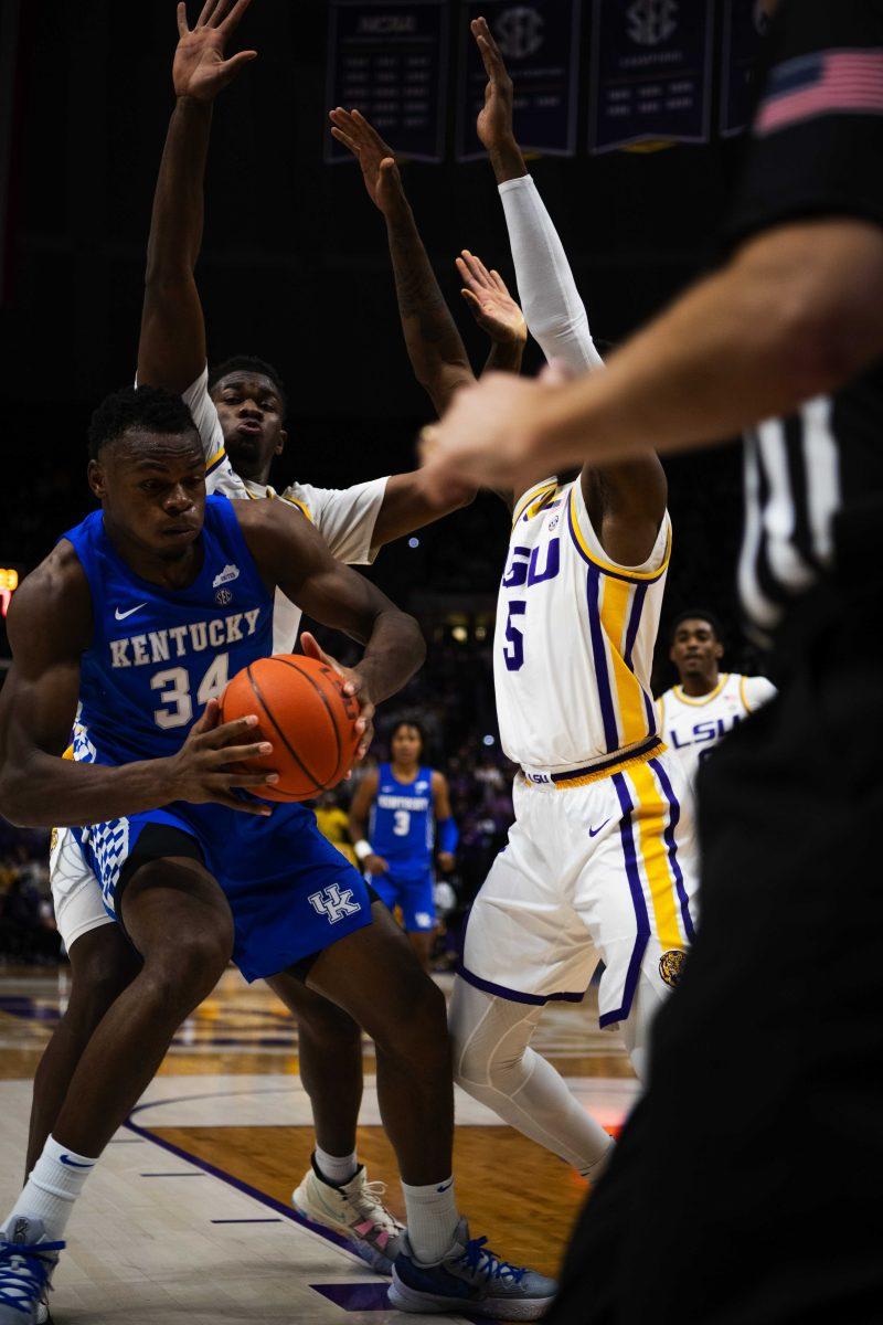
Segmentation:
<svg viewBox="0 0 883 1325">
<path fill-rule="evenodd" d="M 65 996 L 64 975 L 0 971 L 0 1218 L 19 1189 L 29 1079 Z M 535 1043 L 605 1125 L 622 1121 L 637 1086 L 616 1036 L 597 1030 L 593 992 L 582 1007 L 552 1004 Z M 402 1214 L 369 1043 L 364 1065 L 360 1157 Z M 86 1186 L 56 1276 L 58 1325 L 120 1313 L 127 1325 L 418 1320 L 391 1312 L 385 1280 L 291 1211 L 312 1146 L 297 1068 L 285 1008 L 228 973 Z M 473 1235 L 553 1273 L 585 1183 L 461 1092 L 457 1117 L 454 1171 Z"/>
</svg>

